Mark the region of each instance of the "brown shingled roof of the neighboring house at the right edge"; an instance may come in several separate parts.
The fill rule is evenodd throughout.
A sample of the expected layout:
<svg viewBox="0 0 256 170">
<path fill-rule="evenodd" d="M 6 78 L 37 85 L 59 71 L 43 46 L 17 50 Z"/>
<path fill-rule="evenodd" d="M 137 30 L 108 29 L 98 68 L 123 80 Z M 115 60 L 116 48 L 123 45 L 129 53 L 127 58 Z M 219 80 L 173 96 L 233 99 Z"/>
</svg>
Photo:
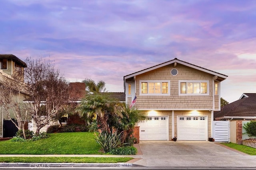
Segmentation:
<svg viewBox="0 0 256 170">
<path fill-rule="evenodd" d="M 235 102 L 214 111 L 215 120 L 256 120 L 256 93 L 244 93 Z"/>
</svg>

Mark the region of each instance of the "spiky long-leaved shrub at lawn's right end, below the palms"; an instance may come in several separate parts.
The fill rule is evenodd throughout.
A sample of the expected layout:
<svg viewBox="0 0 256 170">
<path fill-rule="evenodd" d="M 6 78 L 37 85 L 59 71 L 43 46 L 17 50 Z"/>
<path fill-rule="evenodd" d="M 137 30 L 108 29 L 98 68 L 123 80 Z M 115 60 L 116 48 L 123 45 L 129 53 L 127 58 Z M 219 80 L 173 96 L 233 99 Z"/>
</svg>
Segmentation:
<svg viewBox="0 0 256 170">
<path fill-rule="evenodd" d="M 109 152 L 111 149 L 122 147 L 121 135 L 122 133 L 117 134 L 117 131 L 115 133 L 108 133 L 106 131 L 102 131 L 96 137 L 96 142 L 100 144 L 101 148 L 106 153 Z"/>
</svg>

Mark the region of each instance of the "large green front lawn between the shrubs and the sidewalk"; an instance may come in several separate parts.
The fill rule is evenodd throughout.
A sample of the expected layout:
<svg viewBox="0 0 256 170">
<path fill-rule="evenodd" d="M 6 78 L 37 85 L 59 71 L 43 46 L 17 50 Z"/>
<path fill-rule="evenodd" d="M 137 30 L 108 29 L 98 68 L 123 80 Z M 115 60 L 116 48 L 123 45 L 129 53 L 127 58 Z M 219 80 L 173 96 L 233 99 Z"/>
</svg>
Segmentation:
<svg viewBox="0 0 256 170">
<path fill-rule="evenodd" d="M 51 133 L 47 139 L 0 141 L 0 154 L 103 154 L 94 132 Z"/>
</svg>

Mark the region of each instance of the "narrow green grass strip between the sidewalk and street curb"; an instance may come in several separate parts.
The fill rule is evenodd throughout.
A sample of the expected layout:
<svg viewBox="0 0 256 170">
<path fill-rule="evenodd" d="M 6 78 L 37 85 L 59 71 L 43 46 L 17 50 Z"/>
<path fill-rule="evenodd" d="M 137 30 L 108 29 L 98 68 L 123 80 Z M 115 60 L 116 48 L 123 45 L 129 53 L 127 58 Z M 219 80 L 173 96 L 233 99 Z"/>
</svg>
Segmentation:
<svg viewBox="0 0 256 170">
<path fill-rule="evenodd" d="M 0 162 L 14 163 L 119 163 L 127 162 L 128 157 L 0 157 Z"/>
</svg>

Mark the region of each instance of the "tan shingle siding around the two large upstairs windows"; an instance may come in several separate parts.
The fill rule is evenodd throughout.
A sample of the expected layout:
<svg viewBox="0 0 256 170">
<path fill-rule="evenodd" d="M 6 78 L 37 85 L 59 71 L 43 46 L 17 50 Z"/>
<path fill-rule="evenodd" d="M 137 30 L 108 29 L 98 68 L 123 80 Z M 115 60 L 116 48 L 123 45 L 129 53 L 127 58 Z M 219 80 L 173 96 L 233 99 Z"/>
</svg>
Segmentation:
<svg viewBox="0 0 256 170">
<path fill-rule="evenodd" d="M 212 76 L 177 64 L 178 75 L 172 76 L 172 65 L 136 76 L 136 106 L 140 109 L 212 109 Z M 140 80 L 170 80 L 170 96 L 140 96 Z M 209 80 L 209 96 L 179 96 L 178 80 Z M 216 106 L 216 105 L 215 105 Z"/>
</svg>

